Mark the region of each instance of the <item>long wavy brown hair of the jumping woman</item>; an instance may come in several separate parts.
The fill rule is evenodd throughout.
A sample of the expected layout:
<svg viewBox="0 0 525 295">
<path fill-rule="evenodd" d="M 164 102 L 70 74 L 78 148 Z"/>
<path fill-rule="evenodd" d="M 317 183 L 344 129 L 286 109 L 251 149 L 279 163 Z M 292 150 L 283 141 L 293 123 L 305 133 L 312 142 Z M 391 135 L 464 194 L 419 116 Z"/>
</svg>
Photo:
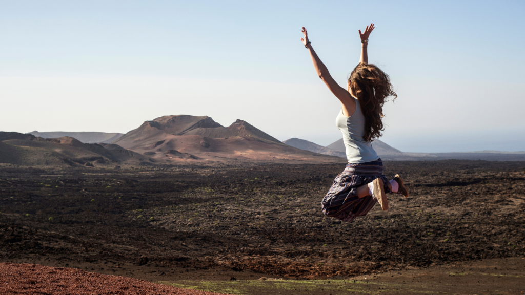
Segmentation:
<svg viewBox="0 0 525 295">
<path fill-rule="evenodd" d="M 350 74 L 348 82 L 365 117 L 363 139 L 380 138 L 384 130 L 381 118 L 384 117 L 385 99 L 389 96 L 393 96 L 393 100 L 397 98 L 390 77 L 375 65 L 361 62 Z"/>
</svg>

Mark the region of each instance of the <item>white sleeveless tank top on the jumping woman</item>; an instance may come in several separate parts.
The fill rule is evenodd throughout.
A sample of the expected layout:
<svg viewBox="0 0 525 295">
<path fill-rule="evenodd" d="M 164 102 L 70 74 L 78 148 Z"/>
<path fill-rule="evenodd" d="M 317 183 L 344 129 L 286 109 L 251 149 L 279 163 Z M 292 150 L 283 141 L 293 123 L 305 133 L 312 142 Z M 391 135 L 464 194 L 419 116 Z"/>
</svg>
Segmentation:
<svg viewBox="0 0 525 295">
<path fill-rule="evenodd" d="M 359 100 L 355 100 L 355 112 L 345 117 L 343 110 L 339 111 L 335 125 L 343 133 L 346 159 L 349 163 L 366 163 L 379 159 L 372 148 L 372 143 L 363 140 L 365 117 L 361 111 Z"/>
</svg>

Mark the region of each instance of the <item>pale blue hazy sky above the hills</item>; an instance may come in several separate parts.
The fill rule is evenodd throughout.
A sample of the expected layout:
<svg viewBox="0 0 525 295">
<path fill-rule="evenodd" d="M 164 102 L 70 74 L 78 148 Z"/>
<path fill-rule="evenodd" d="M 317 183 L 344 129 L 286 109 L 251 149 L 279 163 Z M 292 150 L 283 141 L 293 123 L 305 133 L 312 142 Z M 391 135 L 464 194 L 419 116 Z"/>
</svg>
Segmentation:
<svg viewBox="0 0 525 295">
<path fill-rule="evenodd" d="M 342 85 L 369 61 L 397 89 L 402 151 L 525 150 L 523 1 L 1 1 L 0 130 L 122 132 L 162 115 L 245 120 L 328 145 Z"/>
</svg>

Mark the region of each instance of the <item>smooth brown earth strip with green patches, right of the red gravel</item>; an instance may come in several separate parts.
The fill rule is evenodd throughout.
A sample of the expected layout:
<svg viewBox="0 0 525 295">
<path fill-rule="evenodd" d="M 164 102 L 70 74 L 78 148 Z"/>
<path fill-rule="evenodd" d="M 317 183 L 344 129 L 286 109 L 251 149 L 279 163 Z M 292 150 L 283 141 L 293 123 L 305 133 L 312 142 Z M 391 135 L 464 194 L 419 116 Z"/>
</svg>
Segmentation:
<svg viewBox="0 0 525 295">
<path fill-rule="evenodd" d="M 239 295 L 525 294 L 525 258 L 458 262 L 349 279 L 183 280 L 162 283 Z"/>
</svg>

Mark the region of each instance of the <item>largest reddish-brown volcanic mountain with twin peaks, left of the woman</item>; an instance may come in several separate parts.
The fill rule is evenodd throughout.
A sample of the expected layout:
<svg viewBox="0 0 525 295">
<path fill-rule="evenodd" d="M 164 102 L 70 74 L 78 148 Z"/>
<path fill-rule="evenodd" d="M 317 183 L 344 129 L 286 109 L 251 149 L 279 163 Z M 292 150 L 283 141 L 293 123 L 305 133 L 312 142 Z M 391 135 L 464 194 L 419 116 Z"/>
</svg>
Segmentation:
<svg viewBox="0 0 525 295">
<path fill-rule="evenodd" d="M 338 163 L 340 159 L 293 148 L 243 120 L 223 127 L 207 116 L 169 115 L 145 121 L 112 142 L 159 161 L 192 160 Z"/>
</svg>

